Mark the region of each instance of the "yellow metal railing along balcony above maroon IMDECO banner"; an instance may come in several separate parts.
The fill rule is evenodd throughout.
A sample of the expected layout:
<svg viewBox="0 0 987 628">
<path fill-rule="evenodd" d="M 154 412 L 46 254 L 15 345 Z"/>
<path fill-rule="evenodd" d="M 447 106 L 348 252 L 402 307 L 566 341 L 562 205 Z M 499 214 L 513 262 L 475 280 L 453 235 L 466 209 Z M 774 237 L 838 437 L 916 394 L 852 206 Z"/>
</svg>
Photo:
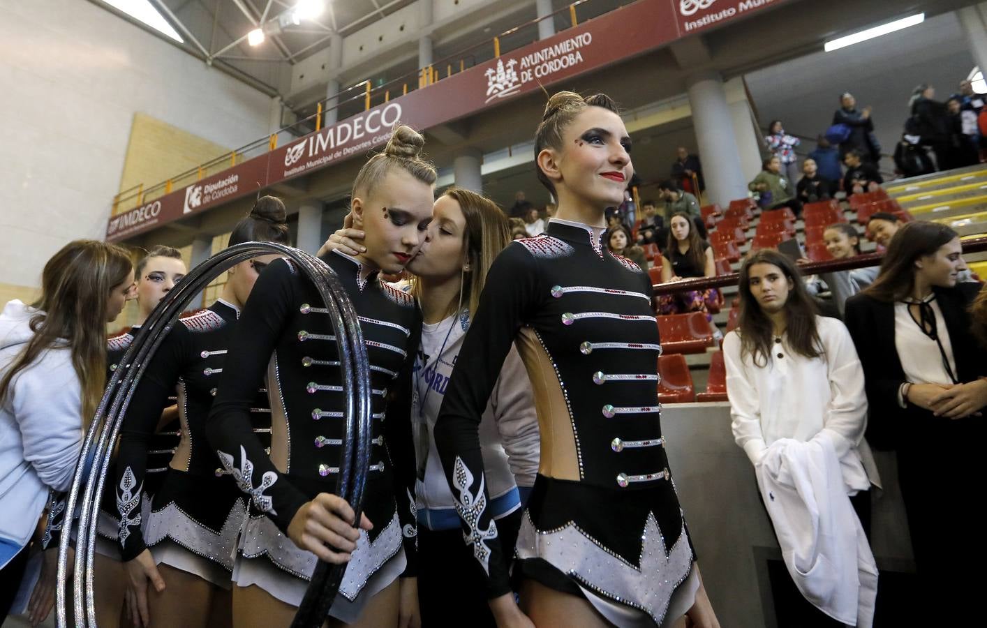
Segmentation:
<svg viewBox="0 0 987 628">
<path fill-rule="evenodd" d="M 534 20 L 519 24 L 504 31 L 503 33 L 500 33 L 499 35 L 493 36 L 490 39 L 483 39 L 477 43 L 473 43 L 465 48 L 453 52 L 452 54 L 441 57 L 425 67 L 418 68 L 412 72 L 407 72 L 395 79 L 377 85 L 376 87 L 373 86 L 370 79 L 360 81 L 355 85 L 351 85 L 343 89 L 335 96 L 327 97 L 318 101 L 316 103 L 315 114 L 297 119 L 291 124 L 288 124 L 287 126 L 266 135 L 265 137 L 254 140 L 249 144 L 241 146 L 235 150 L 231 150 L 228 153 L 223 153 L 214 159 L 199 164 L 195 168 L 179 173 L 174 177 L 170 177 L 165 181 L 161 181 L 153 185 L 140 183 L 119 192 L 114 196 L 111 215 L 128 211 L 134 207 L 139 207 L 150 200 L 170 194 L 172 191 L 179 188 L 184 188 L 190 183 L 198 181 L 204 177 L 217 174 L 227 168 L 237 165 L 238 163 L 242 163 L 247 159 L 251 159 L 258 155 L 264 154 L 267 151 L 274 150 L 277 148 L 278 137 L 281 133 L 286 132 L 294 135 L 295 137 L 300 137 L 302 135 L 307 135 L 310 132 L 318 131 L 322 128 L 326 115 L 330 112 L 335 111 L 337 114 L 341 114 L 344 111 L 351 111 L 354 108 L 359 108 L 359 111 L 367 111 L 375 104 L 379 105 L 381 103 L 387 103 L 392 98 L 398 98 L 408 94 L 410 91 L 415 91 L 416 89 L 427 88 L 429 85 L 433 85 L 442 79 L 454 76 L 455 74 L 474 67 L 477 64 L 478 57 L 482 57 L 482 62 L 483 60 L 487 60 L 487 58 L 497 58 L 503 52 L 532 43 L 538 38 L 535 37 L 535 39 L 528 40 L 518 38 L 517 36 L 522 30 L 529 29 L 531 27 L 537 29 L 538 24 L 544 20 L 552 20 L 554 22 L 556 17 L 564 15 L 569 19 L 569 27 L 567 27 L 567 29 L 562 29 L 562 31 L 568 30 L 569 28 L 574 28 L 579 24 L 578 13 L 576 11 L 577 7 L 586 5 L 587 3 L 591 3 L 593 1 L 594 0 L 576 0 L 568 6 L 558 9 L 546 16 L 535 18 Z M 633 1 L 634 0 L 620 2 L 611 10 L 619 9 L 626 4 L 631 4 Z M 604 11 L 604 13 L 605 12 L 606 11 Z M 507 39 L 511 43 L 509 48 L 504 48 L 504 39 Z M 486 54 L 490 52 L 493 52 L 493 57 L 486 57 Z M 357 112 L 354 111 L 352 115 L 355 115 L 355 113 Z M 340 118 L 342 118 L 342 116 Z"/>
</svg>

